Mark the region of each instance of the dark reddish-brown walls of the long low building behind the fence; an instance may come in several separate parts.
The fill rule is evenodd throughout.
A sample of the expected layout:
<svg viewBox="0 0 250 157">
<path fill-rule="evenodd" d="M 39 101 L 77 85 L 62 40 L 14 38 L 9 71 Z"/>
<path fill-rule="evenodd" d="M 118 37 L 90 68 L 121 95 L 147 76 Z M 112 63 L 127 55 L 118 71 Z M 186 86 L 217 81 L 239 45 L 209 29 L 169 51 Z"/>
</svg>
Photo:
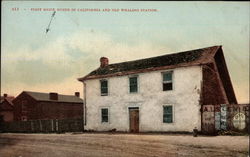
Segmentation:
<svg viewBox="0 0 250 157">
<path fill-rule="evenodd" d="M 21 94 L 14 103 L 14 120 L 21 121 L 22 116 L 27 120 L 38 119 L 69 119 L 82 118 L 82 103 L 36 101 L 26 94 Z M 22 110 L 22 104 L 26 110 Z"/>
</svg>

